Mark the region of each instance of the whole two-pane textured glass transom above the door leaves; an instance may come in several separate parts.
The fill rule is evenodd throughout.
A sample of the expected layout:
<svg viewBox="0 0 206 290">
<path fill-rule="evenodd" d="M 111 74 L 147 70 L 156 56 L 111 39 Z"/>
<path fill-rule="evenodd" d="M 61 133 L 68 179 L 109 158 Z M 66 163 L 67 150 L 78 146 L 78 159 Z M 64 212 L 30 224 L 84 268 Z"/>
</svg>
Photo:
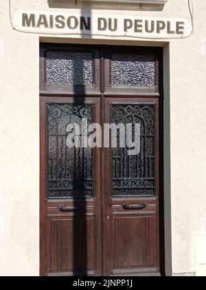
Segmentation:
<svg viewBox="0 0 206 290">
<path fill-rule="evenodd" d="M 159 93 L 159 54 L 149 48 L 47 45 L 41 49 L 41 92 L 58 94 Z"/>
</svg>

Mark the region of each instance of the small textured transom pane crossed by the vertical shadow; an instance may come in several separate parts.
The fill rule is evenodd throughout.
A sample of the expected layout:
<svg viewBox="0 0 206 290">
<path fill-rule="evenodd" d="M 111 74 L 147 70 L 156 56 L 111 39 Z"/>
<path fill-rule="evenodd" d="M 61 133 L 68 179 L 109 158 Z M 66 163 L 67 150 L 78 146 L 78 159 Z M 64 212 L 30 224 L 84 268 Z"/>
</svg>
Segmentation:
<svg viewBox="0 0 206 290">
<path fill-rule="evenodd" d="M 92 54 L 47 52 L 47 83 L 92 85 Z"/>
</svg>

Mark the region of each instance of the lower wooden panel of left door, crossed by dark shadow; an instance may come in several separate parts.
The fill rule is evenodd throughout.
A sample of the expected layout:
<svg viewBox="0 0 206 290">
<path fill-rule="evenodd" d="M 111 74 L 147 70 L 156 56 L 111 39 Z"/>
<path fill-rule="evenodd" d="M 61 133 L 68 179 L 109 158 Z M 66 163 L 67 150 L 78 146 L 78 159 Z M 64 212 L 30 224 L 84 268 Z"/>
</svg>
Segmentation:
<svg viewBox="0 0 206 290">
<path fill-rule="evenodd" d="M 94 270 L 93 218 L 80 216 L 75 220 L 71 216 L 48 221 L 52 273 Z"/>
</svg>

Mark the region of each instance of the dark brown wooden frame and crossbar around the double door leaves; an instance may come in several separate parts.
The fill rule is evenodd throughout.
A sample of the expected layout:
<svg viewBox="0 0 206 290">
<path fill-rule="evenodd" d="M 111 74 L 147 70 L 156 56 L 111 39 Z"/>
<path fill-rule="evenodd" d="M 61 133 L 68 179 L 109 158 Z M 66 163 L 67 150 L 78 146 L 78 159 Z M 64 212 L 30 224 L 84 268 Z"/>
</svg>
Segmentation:
<svg viewBox="0 0 206 290">
<path fill-rule="evenodd" d="M 54 44 L 43 44 L 41 45 L 41 51 L 43 48 L 47 47 L 54 47 Z M 69 46 L 72 48 L 78 47 L 78 45 L 55 45 L 55 48 L 61 48 Z M 81 45 L 82 46 L 82 45 Z M 128 96 L 128 94 L 122 94 L 120 90 L 116 90 L 115 92 L 111 93 L 106 93 L 104 94 L 104 55 L 103 55 L 103 49 L 114 49 L 117 47 L 117 45 L 84 45 L 84 48 L 94 48 L 100 50 L 100 67 L 102 70 L 102 76 L 100 75 L 100 92 L 97 94 L 90 94 L 92 96 L 92 99 L 97 97 L 101 97 L 101 121 L 104 121 L 104 99 L 106 98 L 124 98 Z M 133 50 L 134 47 L 130 46 L 119 46 L 119 48 L 126 50 Z M 157 98 L 159 99 L 159 152 L 162 154 L 159 154 L 159 175 L 161 178 L 159 179 L 159 257 L 160 257 L 160 271 L 161 275 L 165 275 L 165 233 L 164 233 L 164 193 L 163 193 L 163 49 L 162 48 L 144 48 L 144 47 L 138 47 L 135 46 L 135 50 L 137 50 L 139 53 L 148 51 L 150 53 L 156 53 L 159 56 L 158 62 L 156 63 L 155 67 L 156 70 L 158 70 L 158 78 L 156 77 L 156 86 L 159 88 L 159 92 L 152 92 L 148 94 L 143 94 L 143 92 L 135 92 L 135 93 L 130 93 L 129 97 L 130 98 L 139 98 L 139 99 L 150 99 L 150 98 Z M 40 79 L 44 78 L 45 79 L 45 70 L 43 70 L 43 63 L 42 59 L 40 59 L 41 63 L 41 70 L 40 70 Z M 71 96 L 74 97 L 74 94 L 63 92 L 61 94 L 58 94 L 56 92 L 40 92 L 40 275 L 44 276 L 45 275 L 45 266 L 46 266 L 46 260 L 45 260 L 45 247 L 46 247 L 46 231 L 45 231 L 45 192 L 46 192 L 46 185 L 45 185 L 45 177 L 47 177 L 47 168 L 45 164 L 45 141 L 47 140 L 43 128 L 46 126 L 47 120 L 45 119 L 45 112 L 43 108 L 43 99 L 48 97 L 48 99 L 51 97 L 53 98 L 54 96 L 58 97 L 58 99 L 64 99 L 65 102 L 67 101 L 67 97 Z M 81 98 L 82 95 L 75 95 L 75 98 Z M 89 95 L 86 95 L 85 98 L 89 98 Z M 103 161 L 103 154 L 104 154 L 104 148 L 100 149 L 101 153 L 101 161 L 102 161 L 102 173 L 104 172 L 105 169 L 105 164 Z M 102 176 L 102 180 L 100 182 L 101 188 L 102 185 L 104 184 L 104 174 Z M 102 201 L 101 201 L 102 202 Z M 101 205 L 101 211 L 102 211 L 103 203 Z M 103 213 L 101 213 L 103 214 Z M 103 216 L 102 216 L 102 221 L 103 221 Z M 169 229 L 171 231 L 171 229 Z M 104 258 L 102 258 L 102 269 L 104 267 Z"/>
</svg>

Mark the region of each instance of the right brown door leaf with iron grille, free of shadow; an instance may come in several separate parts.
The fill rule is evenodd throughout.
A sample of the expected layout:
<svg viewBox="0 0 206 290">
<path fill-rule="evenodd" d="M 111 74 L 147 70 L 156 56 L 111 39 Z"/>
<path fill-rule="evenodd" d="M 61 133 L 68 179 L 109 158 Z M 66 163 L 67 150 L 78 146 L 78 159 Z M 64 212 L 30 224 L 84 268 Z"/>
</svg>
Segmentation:
<svg viewBox="0 0 206 290">
<path fill-rule="evenodd" d="M 158 274 L 158 101 L 108 98 L 105 108 L 105 123 L 140 124 L 140 152 L 129 156 L 128 147 L 104 149 L 104 259 L 112 257 L 104 271 Z M 119 138 L 123 136 L 117 134 L 117 144 Z"/>
</svg>

